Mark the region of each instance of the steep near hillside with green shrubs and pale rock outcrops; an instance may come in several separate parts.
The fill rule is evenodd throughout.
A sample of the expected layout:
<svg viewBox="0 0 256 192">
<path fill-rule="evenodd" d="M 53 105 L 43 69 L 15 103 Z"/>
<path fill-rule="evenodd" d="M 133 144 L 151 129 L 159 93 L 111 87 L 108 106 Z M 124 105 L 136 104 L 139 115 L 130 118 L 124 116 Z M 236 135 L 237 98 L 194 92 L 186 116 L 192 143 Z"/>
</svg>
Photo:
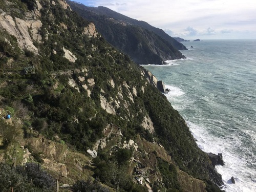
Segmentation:
<svg viewBox="0 0 256 192">
<path fill-rule="evenodd" d="M 93 23 L 63 0 L 0 7 L 3 191 L 220 191 L 157 79 Z"/>
</svg>

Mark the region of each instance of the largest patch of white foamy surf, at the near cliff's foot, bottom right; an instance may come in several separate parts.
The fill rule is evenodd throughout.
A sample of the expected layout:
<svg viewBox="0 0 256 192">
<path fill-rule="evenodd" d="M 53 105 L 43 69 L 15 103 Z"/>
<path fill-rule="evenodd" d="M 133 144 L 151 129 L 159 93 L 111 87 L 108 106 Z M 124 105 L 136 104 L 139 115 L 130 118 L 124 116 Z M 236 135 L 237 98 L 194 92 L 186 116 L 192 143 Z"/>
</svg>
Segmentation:
<svg viewBox="0 0 256 192">
<path fill-rule="evenodd" d="M 215 154 L 222 153 L 225 165 L 217 165 L 216 169 L 222 175 L 222 180 L 225 184 L 224 189 L 226 191 L 256 191 L 256 183 L 255 185 L 251 184 L 251 181 L 255 181 L 256 179 L 255 172 L 253 169 L 248 169 L 248 164 L 252 164 L 255 157 L 252 157 L 251 160 L 245 159 L 232 152 L 233 148 L 244 147 L 240 139 L 234 142 L 232 137 L 216 138 L 208 133 L 207 127 L 204 127 L 204 125 L 197 125 L 190 121 L 186 122 L 202 151 Z M 244 150 L 246 150 L 246 147 Z M 249 153 L 252 153 L 250 149 L 248 150 Z M 248 175 L 250 177 L 246 177 Z M 231 177 L 234 177 L 235 184 L 231 182 Z"/>
</svg>

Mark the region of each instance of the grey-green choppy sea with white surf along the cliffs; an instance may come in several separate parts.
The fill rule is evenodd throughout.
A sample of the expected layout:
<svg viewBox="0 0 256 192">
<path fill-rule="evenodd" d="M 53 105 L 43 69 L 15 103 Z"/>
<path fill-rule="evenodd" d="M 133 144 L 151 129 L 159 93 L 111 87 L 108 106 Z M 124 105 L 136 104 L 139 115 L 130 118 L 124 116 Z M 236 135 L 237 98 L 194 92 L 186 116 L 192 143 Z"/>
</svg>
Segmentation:
<svg viewBox="0 0 256 192">
<path fill-rule="evenodd" d="M 201 150 L 222 153 L 225 165 L 216 169 L 224 190 L 255 192 L 256 39 L 182 43 L 186 59 L 143 67 L 170 90 L 167 99 Z"/>
</svg>

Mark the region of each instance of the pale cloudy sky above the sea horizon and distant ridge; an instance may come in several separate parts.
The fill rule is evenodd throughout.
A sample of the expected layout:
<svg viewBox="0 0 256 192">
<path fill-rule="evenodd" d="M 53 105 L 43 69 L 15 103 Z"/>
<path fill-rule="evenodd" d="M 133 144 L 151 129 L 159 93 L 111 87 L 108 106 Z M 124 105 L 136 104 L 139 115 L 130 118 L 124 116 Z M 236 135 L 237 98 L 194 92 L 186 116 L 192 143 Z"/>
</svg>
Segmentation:
<svg viewBox="0 0 256 192">
<path fill-rule="evenodd" d="M 104 6 L 172 37 L 256 39 L 256 0 L 72 0 Z"/>
</svg>

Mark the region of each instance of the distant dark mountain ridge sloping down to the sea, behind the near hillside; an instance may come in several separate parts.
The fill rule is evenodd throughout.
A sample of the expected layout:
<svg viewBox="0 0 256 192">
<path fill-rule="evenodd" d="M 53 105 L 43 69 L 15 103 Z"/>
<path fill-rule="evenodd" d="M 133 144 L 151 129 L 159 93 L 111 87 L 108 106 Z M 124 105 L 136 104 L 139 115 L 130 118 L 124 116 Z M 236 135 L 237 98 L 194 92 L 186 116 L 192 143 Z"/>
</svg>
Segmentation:
<svg viewBox="0 0 256 192">
<path fill-rule="evenodd" d="M 92 20 L 110 44 L 128 54 L 138 64 L 162 65 L 165 60 L 185 58 L 178 50 L 186 47 L 162 29 L 106 7 L 87 7 L 71 1 L 68 4 L 80 16 Z"/>
</svg>

